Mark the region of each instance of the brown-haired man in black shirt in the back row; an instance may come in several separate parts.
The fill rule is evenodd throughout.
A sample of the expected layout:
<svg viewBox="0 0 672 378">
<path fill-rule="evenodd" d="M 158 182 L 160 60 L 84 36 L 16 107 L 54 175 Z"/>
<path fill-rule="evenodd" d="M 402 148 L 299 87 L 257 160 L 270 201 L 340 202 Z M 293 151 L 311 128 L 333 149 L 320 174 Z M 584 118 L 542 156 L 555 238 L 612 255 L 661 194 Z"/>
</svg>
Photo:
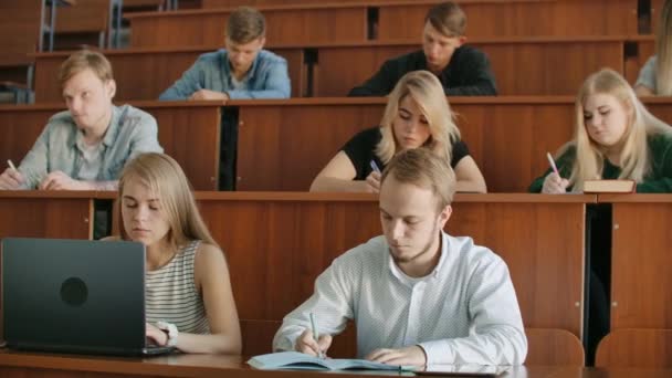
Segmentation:
<svg viewBox="0 0 672 378">
<path fill-rule="evenodd" d="M 466 15 L 454 2 L 433 6 L 424 18 L 422 50 L 391 59 L 348 96 L 386 96 L 411 71 L 432 72 L 449 96 L 494 96 L 495 78 L 487 56 L 464 45 Z"/>
</svg>

